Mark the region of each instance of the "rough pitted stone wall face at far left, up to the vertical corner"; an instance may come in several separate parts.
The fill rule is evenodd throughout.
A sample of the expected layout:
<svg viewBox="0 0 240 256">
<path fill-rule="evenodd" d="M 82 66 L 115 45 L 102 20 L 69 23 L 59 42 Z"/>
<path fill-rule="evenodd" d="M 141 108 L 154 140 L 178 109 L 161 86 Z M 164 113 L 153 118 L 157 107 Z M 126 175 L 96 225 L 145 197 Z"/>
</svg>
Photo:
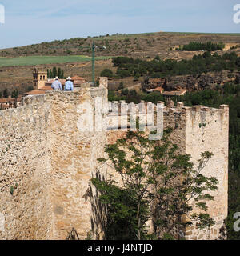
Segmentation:
<svg viewBox="0 0 240 256">
<path fill-rule="evenodd" d="M 0 111 L 0 239 L 50 238 L 50 106 Z"/>
</svg>

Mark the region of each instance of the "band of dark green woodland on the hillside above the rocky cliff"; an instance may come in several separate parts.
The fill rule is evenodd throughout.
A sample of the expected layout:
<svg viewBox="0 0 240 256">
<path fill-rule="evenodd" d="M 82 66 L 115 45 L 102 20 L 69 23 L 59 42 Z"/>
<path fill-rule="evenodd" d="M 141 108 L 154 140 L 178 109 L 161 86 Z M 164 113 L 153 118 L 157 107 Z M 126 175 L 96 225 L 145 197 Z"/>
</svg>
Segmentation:
<svg viewBox="0 0 240 256">
<path fill-rule="evenodd" d="M 147 75 L 150 78 L 166 78 L 167 76 L 194 74 L 200 75 L 210 71 L 240 70 L 240 57 L 235 52 L 225 53 L 222 56 L 210 54 L 194 55 L 191 60 L 162 60 L 156 56 L 148 62 L 139 58 L 117 57 L 113 58 L 114 66 L 118 67 L 116 77 L 139 77 Z"/>
</svg>

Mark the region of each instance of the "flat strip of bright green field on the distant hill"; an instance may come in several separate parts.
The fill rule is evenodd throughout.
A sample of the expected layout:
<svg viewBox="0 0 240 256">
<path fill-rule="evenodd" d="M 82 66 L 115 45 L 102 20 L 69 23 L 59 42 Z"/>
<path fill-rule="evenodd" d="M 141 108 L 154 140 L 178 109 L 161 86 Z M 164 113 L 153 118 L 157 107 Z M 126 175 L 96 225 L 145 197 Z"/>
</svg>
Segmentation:
<svg viewBox="0 0 240 256">
<path fill-rule="evenodd" d="M 96 60 L 109 59 L 111 57 L 96 57 Z M 34 66 L 41 64 L 54 64 L 66 62 L 90 62 L 92 58 L 82 55 L 70 56 L 27 56 L 18 58 L 0 57 L 0 67 L 2 66 Z"/>
</svg>

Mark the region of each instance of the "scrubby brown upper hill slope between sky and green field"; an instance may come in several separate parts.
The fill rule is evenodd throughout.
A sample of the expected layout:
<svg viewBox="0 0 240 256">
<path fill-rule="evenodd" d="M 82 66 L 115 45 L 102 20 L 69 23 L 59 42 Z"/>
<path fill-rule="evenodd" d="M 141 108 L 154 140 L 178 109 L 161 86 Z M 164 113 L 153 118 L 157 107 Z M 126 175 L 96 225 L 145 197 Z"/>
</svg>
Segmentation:
<svg viewBox="0 0 240 256">
<path fill-rule="evenodd" d="M 114 34 L 88 38 L 71 38 L 42 42 L 30 46 L 0 50 L 0 57 L 19 56 L 70 56 L 91 55 L 92 42 L 96 44 L 96 56 L 130 56 L 133 58 L 192 58 L 191 53 L 176 52 L 178 46 L 189 42 L 223 42 L 240 44 L 240 34 L 201 33 L 145 33 Z"/>
</svg>

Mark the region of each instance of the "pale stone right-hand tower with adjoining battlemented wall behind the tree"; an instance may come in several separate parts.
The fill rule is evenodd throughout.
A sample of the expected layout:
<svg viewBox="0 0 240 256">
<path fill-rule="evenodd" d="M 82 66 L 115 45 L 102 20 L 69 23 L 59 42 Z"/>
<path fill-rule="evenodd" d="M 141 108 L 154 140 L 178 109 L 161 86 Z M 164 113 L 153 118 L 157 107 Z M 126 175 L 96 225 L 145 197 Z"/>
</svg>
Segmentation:
<svg viewBox="0 0 240 256">
<path fill-rule="evenodd" d="M 107 123 L 110 129 L 107 136 L 108 143 L 111 144 L 124 135 L 118 127 L 119 122 L 128 112 L 122 111 L 122 102 L 110 102 L 109 108 Z M 120 109 L 121 114 L 118 111 Z M 130 109 L 134 109 L 133 113 L 137 113 L 139 120 L 146 118 L 146 110 L 140 108 L 140 105 L 131 103 Z M 150 114 L 150 111 L 147 111 Z M 142 114 L 143 118 L 141 118 Z M 169 102 L 164 107 L 163 124 L 165 128 L 173 128 L 171 142 L 178 145 L 180 154 L 191 155 L 190 161 L 195 167 L 198 166 L 198 159 L 201 158 L 202 152 L 209 151 L 214 154 L 202 170 L 202 174 L 215 177 L 219 182 L 218 190 L 210 191 L 214 201 L 206 204 L 207 213 L 214 219 L 215 225 L 210 230 L 200 231 L 193 222 L 193 225 L 187 227 L 183 234 L 186 240 L 218 240 L 228 214 L 229 107 L 226 105 L 220 106 L 219 109 L 205 106 L 186 107 L 182 102 L 178 102 L 177 106 L 174 106 L 174 102 Z M 191 201 L 190 205 L 193 206 L 194 213 L 201 213 L 194 206 L 194 202 Z M 189 221 L 188 218 L 184 220 Z"/>
</svg>

